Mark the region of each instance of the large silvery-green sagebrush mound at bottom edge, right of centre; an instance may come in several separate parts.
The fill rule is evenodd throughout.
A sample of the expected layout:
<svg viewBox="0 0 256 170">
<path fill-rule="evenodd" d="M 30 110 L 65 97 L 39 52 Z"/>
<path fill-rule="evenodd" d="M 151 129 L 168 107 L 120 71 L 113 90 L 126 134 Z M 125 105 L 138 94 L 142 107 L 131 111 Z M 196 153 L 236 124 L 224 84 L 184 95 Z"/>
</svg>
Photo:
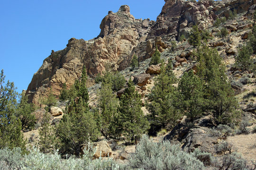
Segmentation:
<svg viewBox="0 0 256 170">
<path fill-rule="evenodd" d="M 181 151 L 169 141 L 155 143 L 143 135 L 136 152 L 128 162 L 131 169 L 139 170 L 203 170 L 203 163 L 192 154 Z"/>
</svg>

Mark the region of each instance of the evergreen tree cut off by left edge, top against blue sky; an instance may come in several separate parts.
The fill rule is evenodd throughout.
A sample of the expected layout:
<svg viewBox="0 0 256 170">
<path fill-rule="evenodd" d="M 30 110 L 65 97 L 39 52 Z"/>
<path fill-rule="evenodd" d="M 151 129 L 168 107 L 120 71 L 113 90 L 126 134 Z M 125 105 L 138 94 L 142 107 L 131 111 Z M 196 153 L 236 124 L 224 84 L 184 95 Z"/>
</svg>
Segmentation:
<svg viewBox="0 0 256 170">
<path fill-rule="evenodd" d="M 25 151 L 25 142 L 21 132 L 21 122 L 15 116 L 17 108 L 16 87 L 13 82 L 4 82 L 3 70 L 0 73 L 0 149 L 20 147 Z"/>
</svg>

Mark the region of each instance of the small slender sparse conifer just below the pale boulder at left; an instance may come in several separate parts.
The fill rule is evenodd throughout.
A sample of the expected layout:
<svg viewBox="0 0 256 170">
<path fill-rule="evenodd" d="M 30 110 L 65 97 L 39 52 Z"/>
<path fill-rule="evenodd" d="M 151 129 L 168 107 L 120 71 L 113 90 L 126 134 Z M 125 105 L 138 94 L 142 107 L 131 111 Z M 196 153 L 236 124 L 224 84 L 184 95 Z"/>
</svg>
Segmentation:
<svg viewBox="0 0 256 170">
<path fill-rule="evenodd" d="M 49 121 L 50 115 L 46 112 L 41 122 L 42 127 L 39 128 L 39 145 L 43 153 L 50 153 L 55 149 L 55 128 L 50 125 Z"/>
</svg>

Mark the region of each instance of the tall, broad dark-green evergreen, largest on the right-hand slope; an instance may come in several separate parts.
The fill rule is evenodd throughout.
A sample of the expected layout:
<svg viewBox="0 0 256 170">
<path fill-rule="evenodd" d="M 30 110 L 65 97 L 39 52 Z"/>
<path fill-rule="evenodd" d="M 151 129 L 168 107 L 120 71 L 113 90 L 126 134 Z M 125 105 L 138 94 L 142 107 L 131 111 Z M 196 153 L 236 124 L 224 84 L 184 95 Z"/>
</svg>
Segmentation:
<svg viewBox="0 0 256 170">
<path fill-rule="evenodd" d="M 220 123 L 230 121 L 234 116 L 232 112 L 237 106 L 237 101 L 218 51 L 203 46 L 197 50 L 195 56 L 199 62 L 197 75 L 205 82 L 205 107 Z"/>
</svg>

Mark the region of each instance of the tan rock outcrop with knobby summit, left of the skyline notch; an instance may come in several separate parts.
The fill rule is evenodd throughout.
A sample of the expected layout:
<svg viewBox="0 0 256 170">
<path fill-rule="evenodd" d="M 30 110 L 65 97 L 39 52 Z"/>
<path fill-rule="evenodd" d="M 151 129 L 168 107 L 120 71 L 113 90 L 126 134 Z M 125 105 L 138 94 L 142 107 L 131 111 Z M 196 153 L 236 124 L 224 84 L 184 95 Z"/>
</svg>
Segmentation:
<svg viewBox="0 0 256 170">
<path fill-rule="evenodd" d="M 106 66 L 112 70 L 128 67 L 133 50 L 146 40 L 153 24 L 154 21 L 135 19 L 127 5 L 116 13 L 109 12 L 101 21 L 97 38 L 89 41 L 71 38 L 64 50 L 52 52 L 44 60 L 28 85 L 29 102 L 39 104 L 50 88 L 58 96 L 64 83 L 70 87 L 80 78 L 83 66 L 91 77 L 104 71 Z"/>
</svg>

